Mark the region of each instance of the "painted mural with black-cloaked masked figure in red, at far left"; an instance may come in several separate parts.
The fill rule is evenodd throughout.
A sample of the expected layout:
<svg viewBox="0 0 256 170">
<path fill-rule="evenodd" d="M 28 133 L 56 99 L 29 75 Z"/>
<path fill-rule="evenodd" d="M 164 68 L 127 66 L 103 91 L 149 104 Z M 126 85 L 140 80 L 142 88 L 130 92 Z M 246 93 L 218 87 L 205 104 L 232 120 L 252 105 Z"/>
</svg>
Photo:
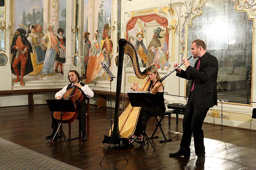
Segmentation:
<svg viewBox="0 0 256 170">
<path fill-rule="evenodd" d="M 66 62 L 66 0 L 51 0 L 50 21 L 44 26 L 44 1 L 13 1 L 11 70 L 14 86 L 43 77 L 63 77 Z M 17 8 L 17 6 L 19 6 Z M 46 19 L 47 20 L 47 19 Z M 60 69 L 60 72 L 58 71 Z"/>
</svg>

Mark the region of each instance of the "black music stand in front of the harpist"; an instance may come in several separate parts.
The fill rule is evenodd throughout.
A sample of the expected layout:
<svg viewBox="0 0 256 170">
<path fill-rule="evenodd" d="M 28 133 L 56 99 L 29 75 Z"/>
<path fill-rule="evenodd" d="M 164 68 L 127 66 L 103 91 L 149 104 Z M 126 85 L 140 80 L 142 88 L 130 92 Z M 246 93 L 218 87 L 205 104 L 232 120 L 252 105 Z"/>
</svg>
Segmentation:
<svg viewBox="0 0 256 170">
<path fill-rule="evenodd" d="M 155 95 L 149 91 L 130 91 L 127 92 L 127 95 L 129 97 L 129 101 L 132 107 L 142 107 L 142 109 L 145 109 L 145 107 L 157 107 Z M 142 117 L 142 125 L 143 129 L 145 129 L 144 117 Z M 139 137 L 141 135 L 143 136 L 143 140 L 139 141 Z M 150 139 L 148 138 L 146 131 L 144 130 L 138 135 L 136 139 L 134 139 L 134 141 L 142 146 L 148 146 L 148 143 L 150 143 L 150 145 L 154 149 L 154 152 L 156 151 Z"/>
</svg>

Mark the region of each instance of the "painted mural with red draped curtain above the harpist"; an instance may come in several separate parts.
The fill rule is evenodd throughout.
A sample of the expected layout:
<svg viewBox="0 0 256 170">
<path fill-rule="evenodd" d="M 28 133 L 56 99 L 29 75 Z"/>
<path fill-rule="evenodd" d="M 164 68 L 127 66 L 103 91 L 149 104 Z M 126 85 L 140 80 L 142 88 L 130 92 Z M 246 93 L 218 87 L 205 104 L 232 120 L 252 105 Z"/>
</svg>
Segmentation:
<svg viewBox="0 0 256 170">
<path fill-rule="evenodd" d="M 166 30 L 168 20 L 156 14 L 135 16 L 126 25 L 126 39 L 136 48 L 140 67 L 148 67 L 154 63 L 161 70 L 168 70 L 169 64 L 168 42 L 169 34 Z M 127 66 L 131 67 L 130 59 Z"/>
</svg>

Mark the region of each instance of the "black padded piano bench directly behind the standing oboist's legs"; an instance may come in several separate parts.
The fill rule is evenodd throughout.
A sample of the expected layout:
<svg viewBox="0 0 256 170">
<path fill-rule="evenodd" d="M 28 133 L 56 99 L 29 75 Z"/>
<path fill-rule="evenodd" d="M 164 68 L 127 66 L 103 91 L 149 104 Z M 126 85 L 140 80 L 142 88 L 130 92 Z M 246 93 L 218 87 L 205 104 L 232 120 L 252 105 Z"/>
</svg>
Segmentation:
<svg viewBox="0 0 256 170">
<path fill-rule="evenodd" d="M 179 121 L 179 115 L 184 115 L 185 114 L 185 108 L 186 108 L 186 104 L 183 103 L 171 103 L 167 105 L 169 112 L 171 114 L 176 114 L 176 124 Z M 168 120 L 169 120 L 169 125 L 171 124 L 171 114 L 168 115 Z"/>
</svg>

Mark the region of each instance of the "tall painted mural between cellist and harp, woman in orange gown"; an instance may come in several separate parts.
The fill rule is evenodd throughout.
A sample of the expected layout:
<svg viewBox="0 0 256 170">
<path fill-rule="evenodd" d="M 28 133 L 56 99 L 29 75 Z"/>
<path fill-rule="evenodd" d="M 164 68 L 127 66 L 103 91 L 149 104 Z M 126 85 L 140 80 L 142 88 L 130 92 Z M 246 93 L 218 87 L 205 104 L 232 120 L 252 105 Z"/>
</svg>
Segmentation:
<svg viewBox="0 0 256 170">
<path fill-rule="evenodd" d="M 86 9 L 88 1 L 84 5 Z M 94 30 L 93 36 L 91 36 L 93 40 L 89 40 L 90 33 L 88 30 L 84 32 L 84 66 L 87 77 L 85 83 L 93 82 L 94 85 L 100 79 L 110 81 L 108 74 L 101 67 L 101 62 L 110 68 L 113 57 L 113 41 L 109 30 L 111 26 L 112 0 L 95 1 L 95 7 L 97 8 L 97 17 L 94 16 L 94 22 L 97 23 L 97 28 Z M 88 24 L 87 15 L 84 15 L 85 28 L 86 24 Z"/>
</svg>

